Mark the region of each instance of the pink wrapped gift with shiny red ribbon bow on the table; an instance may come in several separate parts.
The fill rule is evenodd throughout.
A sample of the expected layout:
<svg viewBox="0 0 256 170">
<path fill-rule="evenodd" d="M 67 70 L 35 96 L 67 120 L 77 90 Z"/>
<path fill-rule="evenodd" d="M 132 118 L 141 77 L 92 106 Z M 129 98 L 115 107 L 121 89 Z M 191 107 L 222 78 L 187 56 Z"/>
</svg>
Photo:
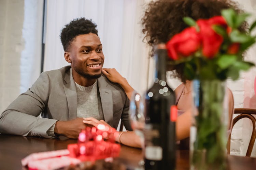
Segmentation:
<svg viewBox="0 0 256 170">
<path fill-rule="evenodd" d="M 115 143 L 118 136 L 115 128 L 103 124 L 89 128 L 79 134 L 78 142 L 69 144 L 68 149 L 33 153 L 22 159 L 22 166 L 33 170 L 51 170 L 77 165 L 83 161 L 94 165 L 98 159 L 112 161 L 118 157 L 120 145 Z M 104 141 L 104 138 L 108 138 Z"/>
</svg>

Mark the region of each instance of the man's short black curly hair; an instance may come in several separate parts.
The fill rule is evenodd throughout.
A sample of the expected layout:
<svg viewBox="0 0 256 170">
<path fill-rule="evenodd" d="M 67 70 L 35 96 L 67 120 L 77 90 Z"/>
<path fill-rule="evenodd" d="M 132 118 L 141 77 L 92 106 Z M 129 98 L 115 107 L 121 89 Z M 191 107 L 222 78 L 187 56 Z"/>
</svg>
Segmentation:
<svg viewBox="0 0 256 170">
<path fill-rule="evenodd" d="M 98 35 L 97 25 L 91 19 L 76 18 L 61 30 L 60 40 L 64 51 L 67 51 L 71 42 L 77 35 L 94 33 Z"/>
</svg>

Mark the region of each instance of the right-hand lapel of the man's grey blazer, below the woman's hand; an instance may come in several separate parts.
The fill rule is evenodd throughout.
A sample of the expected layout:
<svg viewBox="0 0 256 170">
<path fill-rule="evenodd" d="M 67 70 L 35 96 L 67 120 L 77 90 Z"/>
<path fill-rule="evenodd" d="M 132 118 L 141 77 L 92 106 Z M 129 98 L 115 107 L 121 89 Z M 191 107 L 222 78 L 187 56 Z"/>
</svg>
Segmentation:
<svg viewBox="0 0 256 170">
<path fill-rule="evenodd" d="M 105 122 L 109 123 L 110 126 L 113 126 L 112 90 L 107 88 L 108 83 L 106 83 L 106 80 L 104 79 L 103 75 L 97 80 L 97 82 Z"/>
</svg>

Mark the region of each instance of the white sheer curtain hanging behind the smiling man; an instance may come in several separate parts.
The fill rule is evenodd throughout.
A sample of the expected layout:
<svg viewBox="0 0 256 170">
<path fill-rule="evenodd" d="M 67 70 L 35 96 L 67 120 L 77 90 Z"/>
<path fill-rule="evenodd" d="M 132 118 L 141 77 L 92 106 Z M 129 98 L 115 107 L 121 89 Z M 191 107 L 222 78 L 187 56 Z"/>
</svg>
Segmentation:
<svg viewBox="0 0 256 170">
<path fill-rule="evenodd" d="M 142 43 L 144 0 L 47 1 L 44 71 L 68 65 L 60 42 L 63 26 L 78 17 L 92 19 L 99 31 L 104 66 L 116 68 L 139 92 L 147 88 L 148 52 Z"/>
</svg>

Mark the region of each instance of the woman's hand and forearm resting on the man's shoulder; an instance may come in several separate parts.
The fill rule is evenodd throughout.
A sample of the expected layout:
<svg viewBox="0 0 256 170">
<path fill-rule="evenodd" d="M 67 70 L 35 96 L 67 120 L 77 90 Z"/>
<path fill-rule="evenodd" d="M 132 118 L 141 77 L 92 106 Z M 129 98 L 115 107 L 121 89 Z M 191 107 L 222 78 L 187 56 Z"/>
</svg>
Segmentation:
<svg viewBox="0 0 256 170">
<path fill-rule="evenodd" d="M 130 86 L 127 80 L 116 71 L 116 69 L 103 68 L 102 73 L 113 83 L 118 83 L 125 90 L 125 93 L 129 100 L 131 100 L 131 95 L 134 89 Z"/>
</svg>

